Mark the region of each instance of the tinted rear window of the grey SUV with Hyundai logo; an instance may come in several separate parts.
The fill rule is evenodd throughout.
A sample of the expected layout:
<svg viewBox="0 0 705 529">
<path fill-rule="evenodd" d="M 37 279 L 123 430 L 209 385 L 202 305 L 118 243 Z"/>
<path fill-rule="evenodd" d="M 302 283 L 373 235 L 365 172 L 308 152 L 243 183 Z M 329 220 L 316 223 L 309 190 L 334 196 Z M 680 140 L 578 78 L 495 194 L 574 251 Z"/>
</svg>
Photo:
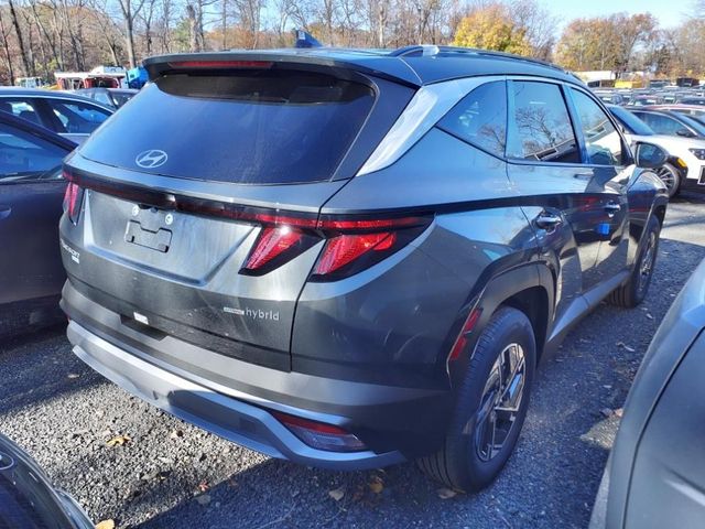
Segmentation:
<svg viewBox="0 0 705 529">
<path fill-rule="evenodd" d="M 329 180 L 373 102 L 358 83 L 293 71 L 167 75 L 80 149 L 94 161 L 245 184 Z M 158 161 L 147 151 L 162 151 Z"/>
</svg>

